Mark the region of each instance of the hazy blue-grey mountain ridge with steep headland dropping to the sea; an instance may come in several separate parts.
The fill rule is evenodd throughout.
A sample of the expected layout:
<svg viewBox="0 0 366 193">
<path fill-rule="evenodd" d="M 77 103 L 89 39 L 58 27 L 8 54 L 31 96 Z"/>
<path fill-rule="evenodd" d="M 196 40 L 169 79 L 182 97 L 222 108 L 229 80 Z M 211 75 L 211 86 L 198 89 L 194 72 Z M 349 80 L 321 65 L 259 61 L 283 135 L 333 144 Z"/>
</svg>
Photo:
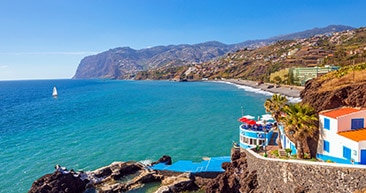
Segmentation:
<svg viewBox="0 0 366 193">
<path fill-rule="evenodd" d="M 250 40 L 231 45 L 211 41 L 193 45 L 156 46 L 141 50 L 135 50 L 129 47 L 114 48 L 83 58 L 73 78 L 130 79 L 142 71 L 203 63 L 244 48 L 256 49 L 279 40 L 306 38 L 319 33 L 330 33 L 347 29 L 353 28 L 333 25 L 264 40 Z"/>
</svg>

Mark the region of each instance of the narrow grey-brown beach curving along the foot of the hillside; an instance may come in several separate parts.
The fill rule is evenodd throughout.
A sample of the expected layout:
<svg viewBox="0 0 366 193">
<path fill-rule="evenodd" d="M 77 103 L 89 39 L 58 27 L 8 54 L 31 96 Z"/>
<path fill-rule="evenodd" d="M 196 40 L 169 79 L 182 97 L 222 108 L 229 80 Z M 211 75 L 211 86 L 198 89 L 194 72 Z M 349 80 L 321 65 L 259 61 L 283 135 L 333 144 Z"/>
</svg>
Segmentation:
<svg viewBox="0 0 366 193">
<path fill-rule="evenodd" d="M 229 82 L 242 86 L 249 86 L 252 88 L 261 89 L 263 91 L 281 94 L 288 97 L 300 98 L 300 92 L 304 89 L 301 86 L 289 86 L 289 85 L 275 85 L 272 83 L 259 83 L 250 80 L 241 80 L 241 79 L 226 79 L 224 82 Z"/>
</svg>

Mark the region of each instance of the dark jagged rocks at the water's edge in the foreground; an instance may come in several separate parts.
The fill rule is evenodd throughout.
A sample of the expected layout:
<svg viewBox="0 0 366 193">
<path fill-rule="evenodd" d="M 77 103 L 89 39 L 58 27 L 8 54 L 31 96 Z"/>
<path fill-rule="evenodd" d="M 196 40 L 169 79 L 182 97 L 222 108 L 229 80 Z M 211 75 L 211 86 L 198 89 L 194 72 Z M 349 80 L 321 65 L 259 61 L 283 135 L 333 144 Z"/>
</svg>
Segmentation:
<svg viewBox="0 0 366 193">
<path fill-rule="evenodd" d="M 161 160 L 168 163 L 166 162 L 168 157 L 163 156 Z M 155 163 L 161 163 L 161 160 Z M 36 180 L 29 193 L 128 192 L 150 182 L 160 183 L 155 193 L 197 190 L 209 193 L 256 192 L 258 189 L 256 172 L 249 172 L 247 166 L 246 154 L 235 151 L 231 156 L 231 162 L 222 164 L 225 172 L 214 175 L 156 171 L 139 162 L 114 162 L 90 172 L 74 172 L 57 167 L 54 173 L 46 174 Z"/>
</svg>

